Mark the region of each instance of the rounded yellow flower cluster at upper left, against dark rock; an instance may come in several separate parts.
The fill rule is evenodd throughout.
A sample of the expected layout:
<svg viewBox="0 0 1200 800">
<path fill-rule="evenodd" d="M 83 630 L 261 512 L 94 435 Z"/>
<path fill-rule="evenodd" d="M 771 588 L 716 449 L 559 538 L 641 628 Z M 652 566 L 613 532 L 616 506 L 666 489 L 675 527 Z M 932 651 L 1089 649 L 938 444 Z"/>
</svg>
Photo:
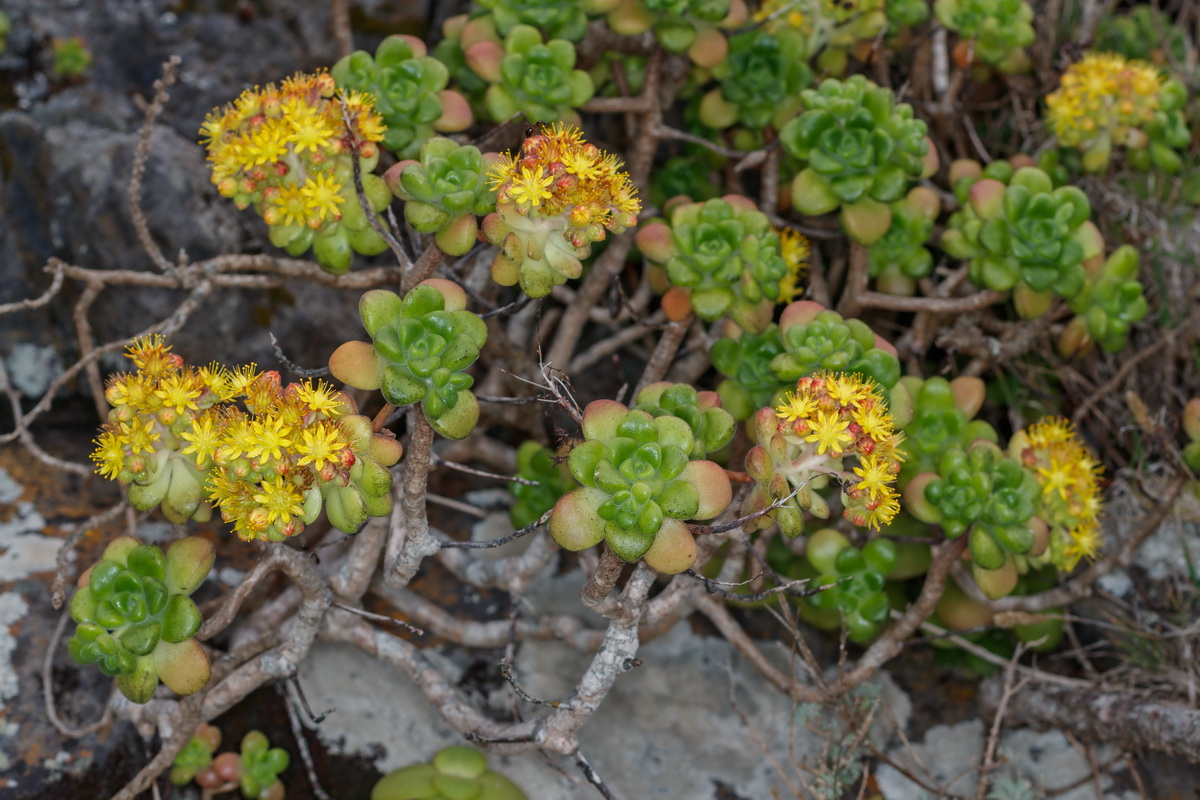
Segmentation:
<svg viewBox="0 0 1200 800">
<path fill-rule="evenodd" d="M 341 219 L 354 193 L 349 157 L 378 157 L 386 126 L 373 97 L 335 90 L 328 73 L 296 73 L 211 112 L 200 142 L 217 191 L 272 225 L 319 230 Z"/>
</svg>

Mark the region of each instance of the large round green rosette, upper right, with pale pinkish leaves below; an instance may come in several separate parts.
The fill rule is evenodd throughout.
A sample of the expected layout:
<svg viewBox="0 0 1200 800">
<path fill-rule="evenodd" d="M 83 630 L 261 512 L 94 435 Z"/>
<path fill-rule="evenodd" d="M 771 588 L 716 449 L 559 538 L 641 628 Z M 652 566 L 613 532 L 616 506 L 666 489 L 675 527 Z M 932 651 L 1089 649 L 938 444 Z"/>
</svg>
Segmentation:
<svg viewBox="0 0 1200 800">
<path fill-rule="evenodd" d="M 800 94 L 804 113 L 779 132 L 784 149 L 804 163 L 792 182 L 800 213 L 841 211 L 846 234 L 878 241 L 892 223 L 888 204 L 937 172 L 937 151 L 912 107 L 863 76 L 828 78 Z"/>
</svg>

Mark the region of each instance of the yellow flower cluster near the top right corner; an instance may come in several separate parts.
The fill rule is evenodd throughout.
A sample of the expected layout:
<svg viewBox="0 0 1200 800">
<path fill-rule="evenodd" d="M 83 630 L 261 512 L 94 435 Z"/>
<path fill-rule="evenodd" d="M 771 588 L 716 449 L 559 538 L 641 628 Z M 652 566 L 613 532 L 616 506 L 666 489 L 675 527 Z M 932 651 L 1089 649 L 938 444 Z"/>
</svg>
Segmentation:
<svg viewBox="0 0 1200 800">
<path fill-rule="evenodd" d="M 1146 61 L 1090 53 L 1067 67 L 1060 88 L 1046 96 L 1046 120 L 1058 142 L 1069 148 L 1102 134 L 1114 144 L 1133 144 L 1130 134 L 1159 108 L 1162 85 L 1162 73 Z"/>
</svg>

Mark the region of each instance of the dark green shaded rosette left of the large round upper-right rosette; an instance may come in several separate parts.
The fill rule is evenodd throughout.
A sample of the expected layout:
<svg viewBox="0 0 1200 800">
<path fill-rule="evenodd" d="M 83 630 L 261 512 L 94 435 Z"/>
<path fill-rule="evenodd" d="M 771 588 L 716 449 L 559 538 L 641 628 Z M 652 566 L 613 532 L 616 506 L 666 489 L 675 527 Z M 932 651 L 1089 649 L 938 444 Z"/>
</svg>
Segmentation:
<svg viewBox="0 0 1200 800">
<path fill-rule="evenodd" d="M 803 37 L 761 28 L 730 38 L 730 53 L 713 67 L 720 82 L 700 103 L 701 121 L 714 128 L 744 125 L 779 128 L 799 110 L 798 96 L 812 83 Z"/>
</svg>

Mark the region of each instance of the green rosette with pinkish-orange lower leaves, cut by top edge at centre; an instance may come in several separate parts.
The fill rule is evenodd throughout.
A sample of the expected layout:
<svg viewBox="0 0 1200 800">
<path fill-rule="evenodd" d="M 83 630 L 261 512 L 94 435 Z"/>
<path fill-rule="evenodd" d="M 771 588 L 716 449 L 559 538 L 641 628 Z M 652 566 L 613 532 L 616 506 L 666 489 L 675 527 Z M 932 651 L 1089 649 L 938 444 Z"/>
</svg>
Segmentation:
<svg viewBox="0 0 1200 800">
<path fill-rule="evenodd" d="M 614 32 L 638 36 L 652 30 L 662 49 L 688 53 L 704 68 L 721 64 L 728 53 L 719 29 L 737 28 L 746 20 L 743 0 L 619 0 L 606 13 Z"/>
</svg>

